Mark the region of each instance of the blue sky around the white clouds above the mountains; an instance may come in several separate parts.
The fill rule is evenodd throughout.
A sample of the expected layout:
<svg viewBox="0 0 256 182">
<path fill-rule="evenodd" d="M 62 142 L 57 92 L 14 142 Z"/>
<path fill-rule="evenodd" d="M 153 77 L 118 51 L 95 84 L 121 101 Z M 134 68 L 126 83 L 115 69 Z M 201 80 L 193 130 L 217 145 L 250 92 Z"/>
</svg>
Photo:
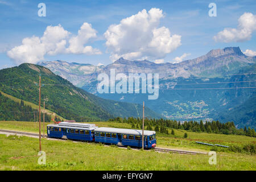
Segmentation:
<svg viewBox="0 0 256 182">
<path fill-rule="evenodd" d="M 46 17 L 38 16 L 38 4 L 46 4 Z M 209 3 L 217 5 L 217 16 L 209 17 Z M 7 51 L 20 46 L 24 38 L 33 35 L 43 36 L 47 26 L 61 24 L 64 30 L 77 35 L 83 23 L 89 23 L 97 31 L 97 38 L 86 42 L 101 51 L 100 55 L 85 53 L 57 53 L 44 55 L 45 61 L 66 60 L 77 63 L 110 64 L 111 50 L 106 46 L 104 33 L 112 24 L 119 24 L 122 19 L 152 8 L 163 11 L 158 28 L 166 27 L 171 36 L 180 35 L 181 45 L 168 53 L 157 55 L 165 62 L 174 61 L 187 53 L 184 59 L 193 59 L 204 55 L 210 49 L 239 46 L 242 51 L 256 51 L 256 31 L 249 39 L 230 41 L 228 43 L 214 41 L 213 36 L 224 28 L 237 28 L 238 19 L 244 13 L 256 14 L 255 1 L 7 1 L 0 0 L 0 69 L 17 65 Z M 132 38 L 131 38 L 132 40 Z M 123 48 L 125 49 L 125 48 Z M 113 51 L 113 50 L 112 50 Z M 143 56 L 146 53 L 143 54 Z M 162 56 L 162 57 L 161 57 Z M 150 59 L 151 60 L 151 59 Z M 154 61 L 154 60 L 152 60 Z"/>
</svg>

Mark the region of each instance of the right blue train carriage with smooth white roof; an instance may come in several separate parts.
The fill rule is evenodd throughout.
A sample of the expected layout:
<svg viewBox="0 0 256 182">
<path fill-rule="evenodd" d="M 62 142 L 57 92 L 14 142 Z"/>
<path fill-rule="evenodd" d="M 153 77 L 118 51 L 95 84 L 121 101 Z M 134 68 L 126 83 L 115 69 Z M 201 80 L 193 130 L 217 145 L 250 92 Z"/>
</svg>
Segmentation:
<svg viewBox="0 0 256 182">
<path fill-rule="evenodd" d="M 142 147 L 142 130 L 99 127 L 94 132 L 96 142 Z M 154 148 L 155 146 L 155 131 L 144 130 L 144 148 Z"/>
</svg>

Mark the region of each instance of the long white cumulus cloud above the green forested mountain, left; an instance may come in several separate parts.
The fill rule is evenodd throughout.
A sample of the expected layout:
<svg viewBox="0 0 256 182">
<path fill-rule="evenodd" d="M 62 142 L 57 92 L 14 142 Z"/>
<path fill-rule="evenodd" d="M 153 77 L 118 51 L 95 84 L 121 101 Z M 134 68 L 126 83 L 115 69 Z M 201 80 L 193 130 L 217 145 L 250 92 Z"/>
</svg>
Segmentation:
<svg viewBox="0 0 256 182">
<path fill-rule="evenodd" d="M 88 34 L 86 32 L 88 31 Z M 58 26 L 47 26 L 42 37 L 32 36 L 24 38 L 22 45 L 16 46 L 7 55 L 21 63 L 37 63 L 44 60 L 45 55 L 57 55 L 59 53 L 85 53 L 100 54 L 98 49 L 85 46 L 90 38 L 96 37 L 96 31 L 88 23 L 82 24 L 78 35 L 71 36 L 71 33 L 59 24 Z M 69 43 L 69 45 L 67 44 Z"/>
</svg>

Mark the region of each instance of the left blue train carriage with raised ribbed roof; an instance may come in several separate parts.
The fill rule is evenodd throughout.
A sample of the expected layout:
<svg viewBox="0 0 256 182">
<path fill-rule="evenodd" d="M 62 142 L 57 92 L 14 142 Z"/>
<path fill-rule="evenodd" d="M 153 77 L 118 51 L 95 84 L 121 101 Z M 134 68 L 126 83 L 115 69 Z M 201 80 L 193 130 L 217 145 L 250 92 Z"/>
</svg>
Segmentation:
<svg viewBox="0 0 256 182">
<path fill-rule="evenodd" d="M 69 123 L 61 122 L 57 125 L 47 125 L 47 135 L 53 138 L 63 138 L 76 140 L 94 140 L 94 129 L 96 125 L 89 123 Z"/>
</svg>

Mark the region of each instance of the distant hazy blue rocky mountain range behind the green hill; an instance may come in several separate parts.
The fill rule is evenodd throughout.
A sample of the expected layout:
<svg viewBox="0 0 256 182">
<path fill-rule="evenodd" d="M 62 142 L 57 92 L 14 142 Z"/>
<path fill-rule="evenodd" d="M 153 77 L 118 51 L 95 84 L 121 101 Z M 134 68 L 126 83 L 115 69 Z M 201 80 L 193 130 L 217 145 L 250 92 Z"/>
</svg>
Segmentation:
<svg viewBox="0 0 256 182">
<path fill-rule="evenodd" d="M 218 119 L 221 122 L 234 121 L 237 127 L 250 126 L 255 129 L 255 63 L 256 56 L 244 55 L 239 47 L 226 47 L 176 64 L 156 64 L 148 60 L 130 61 L 123 57 L 105 67 L 66 61 L 47 61 L 40 64 L 56 74 L 63 74 L 73 84 L 96 96 L 136 104 L 145 101 L 146 106 L 166 118 L 180 121 Z M 74 67 L 74 64 L 77 66 Z M 77 71 L 81 67 L 90 72 Z M 65 72 L 61 71 L 63 69 Z M 110 75 L 110 69 L 115 69 L 115 74 L 125 75 L 159 73 L 158 99 L 147 100 L 147 94 L 141 92 L 98 93 L 97 76 L 100 73 Z M 73 75 L 79 77 L 79 82 L 72 80 L 71 77 L 75 77 Z"/>
</svg>

